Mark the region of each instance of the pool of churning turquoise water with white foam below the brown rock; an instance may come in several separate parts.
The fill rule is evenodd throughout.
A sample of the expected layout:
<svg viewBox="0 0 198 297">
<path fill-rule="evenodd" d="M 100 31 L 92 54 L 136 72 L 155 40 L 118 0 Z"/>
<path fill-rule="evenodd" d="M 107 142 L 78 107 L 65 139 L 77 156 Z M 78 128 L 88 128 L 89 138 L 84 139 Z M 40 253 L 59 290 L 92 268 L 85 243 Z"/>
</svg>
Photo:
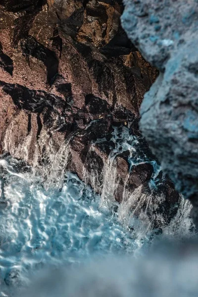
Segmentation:
<svg viewBox="0 0 198 297">
<path fill-rule="evenodd" d="M 6 162 L 1 164 L 9 168 Z M 99 211 L 100 198 L 76 176 L 68 174 L 61 191 L 47 192 L 41 184 L 28 183 L 30 176 L 26 180 L 8 172 L 4 186 L 8 205 L 0 209 L 1 294 L 25 285 L 28 272 L 45 265 L 133 251 L 131 234 Z"/>
</svg>

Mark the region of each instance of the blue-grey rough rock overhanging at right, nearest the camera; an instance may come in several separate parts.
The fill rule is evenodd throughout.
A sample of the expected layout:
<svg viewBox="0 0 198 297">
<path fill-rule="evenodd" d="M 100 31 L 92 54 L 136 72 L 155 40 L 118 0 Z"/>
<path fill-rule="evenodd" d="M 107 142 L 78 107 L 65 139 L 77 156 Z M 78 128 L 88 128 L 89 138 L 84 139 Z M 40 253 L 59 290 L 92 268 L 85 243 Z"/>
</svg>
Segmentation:
<svg viewBox="0 0 198 297">
<path fill-rule="evenodd" d="M 160 70 L 142 103 L 141 130 L 176 189 L 197 205 L 198 1 L 125 0 L 125 4 L 123 28 Z M 198 211 L 195 207 L 193 211 L 198 221 Z"/>
</svg>

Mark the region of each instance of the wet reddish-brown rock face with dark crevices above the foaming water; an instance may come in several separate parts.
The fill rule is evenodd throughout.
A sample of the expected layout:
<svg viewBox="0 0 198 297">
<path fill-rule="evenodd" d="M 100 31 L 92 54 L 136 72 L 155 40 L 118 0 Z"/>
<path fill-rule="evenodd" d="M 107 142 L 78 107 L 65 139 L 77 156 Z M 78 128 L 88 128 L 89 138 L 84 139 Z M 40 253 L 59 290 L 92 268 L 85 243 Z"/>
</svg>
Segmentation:
<svg viewBox="0 0 198 297">
<path fill-rule="evenodd" d="M 156 174 L 138 128 L 158 71 L 121 28 L 122 10 L 114 1 L 0 0 L 0 153 L 42 171 L 46 187 L 61 186 L 67 169 L 103 198 L 164 192 L 155 213 L 168 223 L 179 195 Z M 139 144 L 133 165 L 125 130 Z"/>
</svg>

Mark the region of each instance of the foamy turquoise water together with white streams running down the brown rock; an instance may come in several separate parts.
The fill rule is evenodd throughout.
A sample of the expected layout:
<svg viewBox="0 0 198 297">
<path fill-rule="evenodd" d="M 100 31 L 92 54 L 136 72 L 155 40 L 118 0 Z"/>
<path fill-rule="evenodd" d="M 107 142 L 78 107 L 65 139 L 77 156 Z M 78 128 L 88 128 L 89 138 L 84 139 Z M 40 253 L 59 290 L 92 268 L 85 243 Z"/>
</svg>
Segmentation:
<svg viewBox="0 0 198 297">
<path fill-rule="evenodd" d="M 153 181 L 159 168 L 146 156 L 138 156 L 138 140 L 127 129 L 122 132 L 120 136 L 115 129 L 112 135 L 115 148 L 103 171 L 101 197 L 77 176 L 65 173 L 69 141 L 57 153 L 49 144 L 46 166 L 39 168 L 42 175 L 36 167 L 20 170 L 20 161 L 11 157 L 0 159 L 0 296 L 16 296 L 17 290 L 28 286 L 31 275 L 48 265 L 74 265 L 104 254 L 137 256 L 149 247 L 155 231 L 150 230 L 144 215 L 136 218 L 131 206 L 145 199 L 152 203 L 152 197 L 142 194 L 139 187 L 126 193 L 128 198 L 118 205 L 113 195 L 117 183 L 114 159 L 128 149 L 131 166 L 153 162 Z M 48 141 L 46 134 L 43 142 Z M 41 139 L 40 150 L 43 148 Z M 164 226 L 161 238 L 191 235 L 190 207 L 181 198 L 177 215 Z"/>
</svg>

